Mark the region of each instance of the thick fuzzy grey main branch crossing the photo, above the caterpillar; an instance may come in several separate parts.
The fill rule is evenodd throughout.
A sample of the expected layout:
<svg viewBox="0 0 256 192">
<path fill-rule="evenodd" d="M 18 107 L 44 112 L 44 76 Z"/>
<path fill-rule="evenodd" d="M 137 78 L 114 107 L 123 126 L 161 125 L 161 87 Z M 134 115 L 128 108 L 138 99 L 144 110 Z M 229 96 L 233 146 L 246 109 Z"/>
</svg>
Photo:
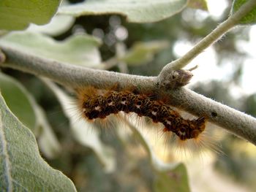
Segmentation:
<svg viewBox="0 0 256 192">
<path fill-rule="evenodd" d="M 110 87 L 116 82 L 122 88 L 133 85 L 139 88 L 140 91 L 146 91 L 147 93 L 157 91 L 157 88 L 159 88 L 157 77 L 142 77 L 88 69 L 39 58 L 6 46 L 1 46 L 1 49 L 6 55 L 7 60 L 6 63 L 0 64 L 0 66 L 48 77 L 53 81 L 59 82 L 61 85 L 72 88 L 86 85 L 104 88 Z M 256 145 L 256 119 L 252 118 L 252 116 L 233 110 L 224 104 L 208 99 L 187 88 L 176 88 L 162 91 L 162 93 L 170 96 L 170 104 L 173 106 L 186 110 L 193 115 L 203 115 L 209 121 Z"/>
</svg>

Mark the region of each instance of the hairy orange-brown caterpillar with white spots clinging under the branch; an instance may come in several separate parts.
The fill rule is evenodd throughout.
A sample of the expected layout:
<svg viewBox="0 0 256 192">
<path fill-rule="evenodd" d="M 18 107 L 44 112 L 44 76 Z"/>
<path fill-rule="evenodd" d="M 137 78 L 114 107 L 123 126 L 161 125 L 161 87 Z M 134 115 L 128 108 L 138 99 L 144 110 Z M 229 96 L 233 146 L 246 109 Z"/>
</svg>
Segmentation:
<svg viewBox="0 0 256 192">
<path fill-rule="evenodd" d="M 87 120 L 105 119 L 118 112 L 135 112 L 139 117 L 162 123 L 164 132 L 173 132 L 181 141 L 197 139 L 206 128 L 205 117 L 184 119 L 170 105 L 138 91 L 105 90 L 89 86 L 77 92 L 78 106 Z"/>
</svg>

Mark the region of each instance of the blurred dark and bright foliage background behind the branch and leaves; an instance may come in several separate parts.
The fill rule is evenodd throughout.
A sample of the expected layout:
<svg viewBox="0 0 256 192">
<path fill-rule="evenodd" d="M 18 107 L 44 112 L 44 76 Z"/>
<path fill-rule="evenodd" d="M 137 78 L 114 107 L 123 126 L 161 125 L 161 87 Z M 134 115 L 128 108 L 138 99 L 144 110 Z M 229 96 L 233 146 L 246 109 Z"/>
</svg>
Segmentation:
<svg viewBox="0 0 256 192">
<path fill-rule="evenodd" d="M 70 1 L 72 4 L 77 2 Z M 102 40 L 99 51 L 109 70 L 146 76 L 157 75 L 165 64 L 178 57 L 174 51 L 178 42 L 195 44 L 199 39 L 206 37 L 227 18 L 231 3 L 232 1 L 227 1 L 229 5 L 219 18 L 211 17 L 206 11 L 191 8 L 186 8 L 171 18 L 145 24 L 127 23 L 125 18 L 119 15 L 82 16 L 77 18 L 67 31 L 54 36 L 54 39 L 62 41 L 74 34 L 91 34 Z M 200 15 L 206 16 L 200 18 Z M 256 93 L 234 96 L 231 91 L 233 87 L 241 87 L 244 59 L 248 56 L 236 42 L 238 39 L 249 41 L 248 34 L 249 28 L 237 28 L 213 46 L 217 65 L 225 66 L 227 62 L 233 65 L 232 72 L 228 72 L 225 80 L 209 79 L 206 82 L 193 83 L 190 87 L 197 93 L 256 116 Z M 129 52 L 126 53 L 125 50 Z M 120 53 L 117 53 L 118 51 Z M 113 63 L 110 58 L 118 54 L 125 55 L 117 64 Z M 200 70 L 200 64 L 198 65 L 199 69 L 196 70 Z M 42 81 L 12 69 L 2 71 L 22 82 L 45 110 L 61 150 L 53 156 L 45 153 L 42 153 L 42 156 L 50 166 L 64 172 L 75 183 L 78 191 L 176 191 L 176 188 L 165 185 L 171 183 L 171 180 L 177 182 L 180 175 L 168 172 L 162 176 L 162 173 L 156 172 L 148 153 L 134 132 L 124 128 L 123 133 L 118 128 L 121 127 L 118 123 L 116 128 L 109 129 L 110 131 L 100 131 L 103 145 L 111 147 L 108 155 L 114 154 L 116 158 L 116 168 L 106 171 L 94 150 L 81 145 L 72 137 L 69 119 L 62 112 L 61 104 Z M 200 80 L 200 77 L 198 79 Z M 211 129 L 210 126 L 208 129 Z M 254 191 L 255 146 L 222 131 L 221 128 L 212 126 L 212 130 L 213 134 L 218 135 L 217 145 L 221 146 L 223 153 L 211 151 L 208 155 L 192 155 L 191 158 L 181 160 L 187 166 L 191 191 Z M 40 129 L 38 131 L 40 132 Z M 154 131 L 146 132 L 148 137 L 154 134 Z M 156 136 L 151 140 L 159 158 L 165 162 L 179 161 L 176 159 L 176 153 L 169 151 L 173 146 L 163 144 L 159 140 Z M 200 164 L 202 161 L 203 165 Z M 186 174 L 186 170 L 179 173 Z M 206 184 L 200 185 L 203 182 Z"/>
</svg>

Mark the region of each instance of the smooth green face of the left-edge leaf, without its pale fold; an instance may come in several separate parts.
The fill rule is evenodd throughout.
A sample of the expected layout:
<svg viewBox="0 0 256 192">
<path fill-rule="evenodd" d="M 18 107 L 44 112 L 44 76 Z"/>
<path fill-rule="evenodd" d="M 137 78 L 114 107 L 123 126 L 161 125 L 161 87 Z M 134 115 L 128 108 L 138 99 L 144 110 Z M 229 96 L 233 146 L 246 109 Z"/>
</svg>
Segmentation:
<svg viewBox="0 0 256 192">
<path fill-rule="evenodd" d="M 0 91 L 8 107 L 31 131 L 38 126 L 35 101 L 17 80 L 0 72 Z"/>
</svg>

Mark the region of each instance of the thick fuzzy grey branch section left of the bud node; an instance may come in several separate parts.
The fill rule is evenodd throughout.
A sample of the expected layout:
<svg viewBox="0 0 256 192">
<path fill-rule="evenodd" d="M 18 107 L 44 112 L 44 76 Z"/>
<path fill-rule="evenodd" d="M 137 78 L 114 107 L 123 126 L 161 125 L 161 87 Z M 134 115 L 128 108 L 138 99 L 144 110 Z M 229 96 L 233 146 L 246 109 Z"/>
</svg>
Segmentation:
<svg viewBox="0 0 256 192">
<path fill-rule="evenodd" d="M 93 85 L 97 88 L 109 88 L 118 82 L 122 87 L 135 85 L 138 88 L 156 87 L 156 77 L 142 77 L 138 75 L 121 74 L 99 69 L 89 69 L 81 66 L 61 64 L 58 61 L 51 61 L 45 58 L 39 58 L 12 47 L 0 45 L 5 53 L 6 63 L 3 67 L 18 69 L 23 72 L 48 77 L 61 85 L 71 88 L 80 88 L 87 85 Z"/>
</svg>

